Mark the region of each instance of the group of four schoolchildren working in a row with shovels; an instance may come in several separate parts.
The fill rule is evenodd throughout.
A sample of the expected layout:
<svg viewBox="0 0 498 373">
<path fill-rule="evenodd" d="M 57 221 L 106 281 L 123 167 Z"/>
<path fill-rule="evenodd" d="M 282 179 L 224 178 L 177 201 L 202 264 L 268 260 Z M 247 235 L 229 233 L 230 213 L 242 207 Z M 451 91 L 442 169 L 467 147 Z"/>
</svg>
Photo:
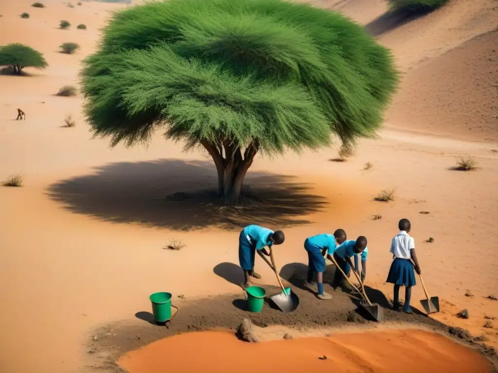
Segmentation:
<svg viewBox="0 0 498 373">
<path fill-rule="evenodd" d="M 401 219 L 398 223 L 399 233 L 391 240 L 389 252 L 392 254 L 392 264 L 387 275 L 387 282 L 394 284 L 393 309 L 400 310 L 399 287 L 405 286 L 405 301 L 403 312 L 412 313 L 410 307 L 411 287 L 416 284 L 414 270 L 420 274 L 420 266 L 415 254 L 415 242 L 408 234 L 411 224 L 408 219 Z M 284 242 L 285 236 L 282 231 L 272 231 L 258 225 L 249 225 L 241 232 L 239 237 L 239 262 L 244 270 L 244 286 L 250 286 L 253 277 L 260 279 L 261 276 L 254 272 L 255 253 L 259 256 L 270 256 L 273 245 Z M 323 273 L 325 272 L 325 256 L 332 262 L 337 263 L 342 270 L 336 269 L 332 280 L 333 289 L 344 285 L 344 275 L 349 278 L 351 269 L 356 272 L 362 284 L 367 276 L 367 238 L 359 236 L 356 240 L 347 240 L 344 229 L 337 229 L 334 234 L 318 234 L 308 237 L 304 241 L 304 250 L 308 254 L 308 276 L 305 285 L 317 288 L 319 299 L 331 299 L 332 295 L 323 290 Z M 361 272 L 359 261 L 361 259 Z M 354 261 L 354 263 L 353 263 Z M 317 280 L 313 281 L 316 273 Z"/>
</svg>

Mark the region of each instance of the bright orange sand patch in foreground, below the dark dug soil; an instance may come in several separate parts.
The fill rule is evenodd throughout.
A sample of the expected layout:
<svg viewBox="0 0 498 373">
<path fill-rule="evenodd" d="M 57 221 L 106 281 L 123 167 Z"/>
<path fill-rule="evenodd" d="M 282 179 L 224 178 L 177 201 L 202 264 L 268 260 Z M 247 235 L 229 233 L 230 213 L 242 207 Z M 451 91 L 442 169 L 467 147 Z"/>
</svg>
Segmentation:
<svg viewBox="0 0 498 373">
<path fill-rule="evenodd" d="M 327 360 L 319 359 L 323 356 Z M 421 330 L 337 334 L 255 344 L 239 341 L 227 333 L 187 333 L 130 352 L 119 364 L 129 373 L 323 369 L 372 373 L 491 372 L 489 362 L 477 352 Z"/>
</svg>

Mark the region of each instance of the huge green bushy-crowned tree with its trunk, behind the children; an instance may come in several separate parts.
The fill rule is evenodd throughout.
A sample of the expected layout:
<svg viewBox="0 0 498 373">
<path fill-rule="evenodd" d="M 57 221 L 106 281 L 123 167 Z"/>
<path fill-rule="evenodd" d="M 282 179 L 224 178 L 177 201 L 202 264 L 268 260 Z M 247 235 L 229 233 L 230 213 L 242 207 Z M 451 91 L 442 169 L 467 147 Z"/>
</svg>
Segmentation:
<svg viewBox="0 0 498 373">
<path fill-rule="evenodd" d="M 280 0 L 168 0 L 115 13 L 81 72 L 111 146 L 157 129 L 204 147 L 240 200 L 255 155 L 372 135 L 397 83 L 390 52 L 339 13 Z"/>
</svg>

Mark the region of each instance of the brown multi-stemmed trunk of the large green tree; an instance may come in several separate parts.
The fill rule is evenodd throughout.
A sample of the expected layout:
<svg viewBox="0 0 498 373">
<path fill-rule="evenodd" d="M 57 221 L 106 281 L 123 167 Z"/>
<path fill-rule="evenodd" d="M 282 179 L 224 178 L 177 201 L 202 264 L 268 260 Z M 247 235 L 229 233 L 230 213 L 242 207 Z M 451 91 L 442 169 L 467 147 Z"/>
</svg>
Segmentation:
<svg viewBox="0 0 498 373">
<path fill-rule="evenodd" d="M 214 145 L 207 141 L 203 141 L 201 144 L 209 152 L 216 166 L 218 196 L 224 199 L 227 206 L 239 204 L 244 178 L 259 150 L 257 140 L 247 147 L 244 157 L 239 146 L 232 145 L 227 141 L 220 145 Z"/>
</svg>

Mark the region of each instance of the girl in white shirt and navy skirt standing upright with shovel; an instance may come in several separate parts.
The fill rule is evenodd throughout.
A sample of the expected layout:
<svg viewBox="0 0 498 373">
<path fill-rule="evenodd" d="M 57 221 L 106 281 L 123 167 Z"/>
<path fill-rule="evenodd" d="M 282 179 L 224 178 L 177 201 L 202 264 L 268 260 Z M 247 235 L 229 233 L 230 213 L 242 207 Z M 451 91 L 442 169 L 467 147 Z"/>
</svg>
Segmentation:
<svg viewBox="0 0 498 373">
<path fill-rule="evenodd" d="M 386 282 L 394 284 L 394 300 L 392 309 L 399 311 L 399 286 L 405 286 L 405 302 L 403 312 L 413 313 L 410 307 L 411 287 L 415 285 L 415 273 L 410 259 L 415 263 L 415 271 L 420 274 L 417 256 L 415 255 L 415 240 L 408 233 L 411 224 L 408 219 L 401 219 L 398 223 L 399 233 L 391 241 L 392 254 L 391 268 L 387 275 Z"/>
</svg>

